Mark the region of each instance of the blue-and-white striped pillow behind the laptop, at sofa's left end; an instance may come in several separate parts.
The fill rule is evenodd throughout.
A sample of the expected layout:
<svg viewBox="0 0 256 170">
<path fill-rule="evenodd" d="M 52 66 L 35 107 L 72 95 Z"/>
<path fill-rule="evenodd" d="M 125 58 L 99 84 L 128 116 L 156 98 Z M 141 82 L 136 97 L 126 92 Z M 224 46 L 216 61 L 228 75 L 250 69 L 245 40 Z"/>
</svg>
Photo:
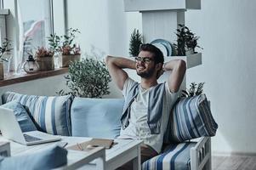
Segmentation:
<svg viewBox="0 0 256 170">
<path fill-rule="evenodd" d="M 37 127 L 45 133 L 71 136 L 70 109 L 71 95 L 47 97 L 15 94 L 6 92 L 2 95 L 3 103 L 15 100 L 28 107 Z"/>
</svg>

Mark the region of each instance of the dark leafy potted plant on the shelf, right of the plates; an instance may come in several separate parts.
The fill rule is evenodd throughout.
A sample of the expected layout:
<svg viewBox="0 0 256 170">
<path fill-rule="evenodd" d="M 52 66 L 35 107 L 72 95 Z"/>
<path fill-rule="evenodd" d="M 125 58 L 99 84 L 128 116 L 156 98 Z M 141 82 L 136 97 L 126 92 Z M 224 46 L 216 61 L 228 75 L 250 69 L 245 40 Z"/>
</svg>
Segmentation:
<svg viewBox="0 0 256 170">
<path fill-rule="evenodd" d="M 197 40 L 199 37 L 196 36 L 187 26 L 180 25 L 177 29 L 177 44 L 174 43 L 174 48 L 176 49 L 177 55 L 188 55 L 194 54 L 195 48 L 201 48 L 197 45 Z"/>
</svg>

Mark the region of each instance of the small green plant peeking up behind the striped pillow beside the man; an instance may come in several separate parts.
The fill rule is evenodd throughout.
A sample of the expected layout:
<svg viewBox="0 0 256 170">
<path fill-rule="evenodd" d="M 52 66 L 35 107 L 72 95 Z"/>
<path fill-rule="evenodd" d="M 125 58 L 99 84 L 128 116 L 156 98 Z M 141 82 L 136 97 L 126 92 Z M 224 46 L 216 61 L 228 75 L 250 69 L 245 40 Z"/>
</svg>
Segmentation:
<svg viewBox="0 0 256 170">
<path fill-rule="evenodd" d="M 202 88 L 205 82 L 199 82 L 198 85 L 196 82 L 191 82 L 190 88 L 182 90 L 181 97 L 193 97 L 199 94 L 202 94 Z"/>
</svg>

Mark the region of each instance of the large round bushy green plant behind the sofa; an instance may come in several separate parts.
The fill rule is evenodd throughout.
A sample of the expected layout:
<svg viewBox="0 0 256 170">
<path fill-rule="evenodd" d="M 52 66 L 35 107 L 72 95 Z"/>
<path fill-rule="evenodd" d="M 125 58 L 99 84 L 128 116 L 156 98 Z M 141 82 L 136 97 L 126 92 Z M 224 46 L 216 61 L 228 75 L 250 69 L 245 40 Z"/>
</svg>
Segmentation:
<svg viewBox="0 0 256 170">
<path fill-rule="evenodd" d="M 110 94 L 108 83 L 111 82 L 111 77 L 105 62 L 88 54 L 81 61 L 71 62 L 65 80 L 71 92 L 60 90 L 57 94 L 85 98 L 102 98 L 103 95 Z"/>
</svg>

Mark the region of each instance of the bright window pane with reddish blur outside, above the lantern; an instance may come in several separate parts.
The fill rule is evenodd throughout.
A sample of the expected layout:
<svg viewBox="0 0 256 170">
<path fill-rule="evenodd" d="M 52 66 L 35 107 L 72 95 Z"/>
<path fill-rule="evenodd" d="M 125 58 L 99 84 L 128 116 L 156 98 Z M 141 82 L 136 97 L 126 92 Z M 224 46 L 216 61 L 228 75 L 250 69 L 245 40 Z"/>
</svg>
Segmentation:
<svg viewBox="0 0 256 170">
<path fill-rule="evenodd" d="M 22 63 L 28 54 L 35 54 L 38 47 L 47 47 L 47 37 L 51 33 L 51 10 L 49 0 L 21 0 L 20 9 L 20 44 Z M 21 64 L 21 63 L 20 63 Z"/>
</svg>

